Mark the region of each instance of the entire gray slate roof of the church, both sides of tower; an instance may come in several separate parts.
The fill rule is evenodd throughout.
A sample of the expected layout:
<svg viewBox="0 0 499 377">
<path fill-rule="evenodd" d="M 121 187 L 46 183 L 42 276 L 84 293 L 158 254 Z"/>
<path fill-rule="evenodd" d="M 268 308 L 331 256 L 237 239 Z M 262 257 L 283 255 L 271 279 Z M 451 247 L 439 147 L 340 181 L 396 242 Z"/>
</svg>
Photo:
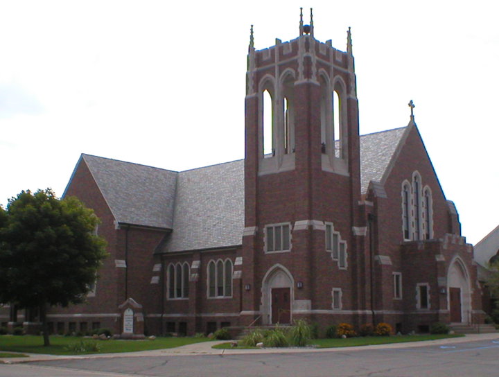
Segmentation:
<svg viewBox="0 0 499 377">
<path fill-rule="evenodd" d="M 360 137 L 362 193 L 382 181 L 407 127 Z M 118 222 L 173 229 L 160 252 L 240 245 L 244 160 L 175 172 L 82 155 Z"/>
</svg>

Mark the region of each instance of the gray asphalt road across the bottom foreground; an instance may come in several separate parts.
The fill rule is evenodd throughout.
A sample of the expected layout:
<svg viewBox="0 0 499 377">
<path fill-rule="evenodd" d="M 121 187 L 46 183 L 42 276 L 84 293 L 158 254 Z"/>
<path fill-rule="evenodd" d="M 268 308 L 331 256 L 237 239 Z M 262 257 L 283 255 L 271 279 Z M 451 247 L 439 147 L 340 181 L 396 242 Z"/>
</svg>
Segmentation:
<svg viewBox="0 0 499 377">
<path fill-rule="evenodd" d="M 499 376 L 499 338 L 397 349 L 54 360 L 0 365 L 0 377 Z"/>
</svg>

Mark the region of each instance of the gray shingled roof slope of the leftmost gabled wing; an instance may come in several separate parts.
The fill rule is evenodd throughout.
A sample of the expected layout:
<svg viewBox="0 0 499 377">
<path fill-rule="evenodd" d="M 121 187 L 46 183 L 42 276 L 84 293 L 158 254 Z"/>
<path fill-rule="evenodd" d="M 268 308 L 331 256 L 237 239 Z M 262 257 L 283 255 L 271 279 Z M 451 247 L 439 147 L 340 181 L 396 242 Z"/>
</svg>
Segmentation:
<svg viewBox="0 0 499 377">
<path fill-rule="evenodd" d="M 118 222 L 172 229 L 177 172 L 82 155 Z"/>
</svg>

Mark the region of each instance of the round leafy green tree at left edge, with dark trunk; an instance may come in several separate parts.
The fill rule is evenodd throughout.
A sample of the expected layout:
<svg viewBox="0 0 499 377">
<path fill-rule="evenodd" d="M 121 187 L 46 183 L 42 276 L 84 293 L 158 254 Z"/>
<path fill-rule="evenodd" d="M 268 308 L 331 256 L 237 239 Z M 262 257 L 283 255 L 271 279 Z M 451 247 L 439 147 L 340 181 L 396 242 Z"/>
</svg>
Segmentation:
<svg viewBox="0 0 499 377">
<path fill-rule="evenodd" d="M 47 308 L 85 301 L 107 256 L 98 222 L 80 200 L 50 189 L 21 191 L 0 211 L 0 302 L 38 308 L 45 346 Z"/>
</svg>

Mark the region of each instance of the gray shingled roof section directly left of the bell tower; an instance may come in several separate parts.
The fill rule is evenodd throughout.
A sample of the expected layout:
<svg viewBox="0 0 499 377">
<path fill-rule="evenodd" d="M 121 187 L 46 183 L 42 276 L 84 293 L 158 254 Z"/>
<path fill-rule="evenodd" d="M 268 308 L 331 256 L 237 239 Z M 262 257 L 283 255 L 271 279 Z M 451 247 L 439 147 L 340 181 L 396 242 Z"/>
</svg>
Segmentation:
<svg viewBox="0 0 499 377">
<path fill-rule="evenodd" d="M 244 161 L 179 173 L 170 252 L 242 243 Z"/>
</svg>

